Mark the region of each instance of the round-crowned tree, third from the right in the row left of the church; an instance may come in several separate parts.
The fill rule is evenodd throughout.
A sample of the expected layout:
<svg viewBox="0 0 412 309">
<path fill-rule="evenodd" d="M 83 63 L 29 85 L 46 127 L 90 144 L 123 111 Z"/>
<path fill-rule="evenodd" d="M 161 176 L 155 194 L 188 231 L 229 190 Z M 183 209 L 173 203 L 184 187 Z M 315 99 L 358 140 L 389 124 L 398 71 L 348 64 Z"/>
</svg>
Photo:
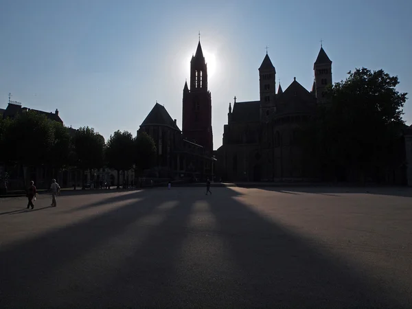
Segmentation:
<svg viewBox="0 0 412 309">
<path fill-rule="evenodd" d="M 76 151 L 76 166 L 82 170 L 84 187 L 84 170 L 101 168 L 104 164 L 104 137 L 89 126 L 79 128 L 73 139 Z"/>
</svg>

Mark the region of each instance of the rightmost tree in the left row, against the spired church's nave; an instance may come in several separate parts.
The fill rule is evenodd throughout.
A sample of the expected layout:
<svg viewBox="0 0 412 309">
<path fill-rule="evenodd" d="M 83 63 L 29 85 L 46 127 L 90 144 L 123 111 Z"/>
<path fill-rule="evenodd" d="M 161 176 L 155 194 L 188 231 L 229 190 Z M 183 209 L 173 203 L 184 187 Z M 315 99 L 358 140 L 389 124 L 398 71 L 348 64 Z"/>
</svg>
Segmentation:
<svg viewBox="0 0 412 309">
<path fill-rule="evenodd" d="M 137 172 L 151 168 L 155 163 L 156 144 L 146 132 L 141 132 L 135 138 L 135 166 Z"/>
</svg>

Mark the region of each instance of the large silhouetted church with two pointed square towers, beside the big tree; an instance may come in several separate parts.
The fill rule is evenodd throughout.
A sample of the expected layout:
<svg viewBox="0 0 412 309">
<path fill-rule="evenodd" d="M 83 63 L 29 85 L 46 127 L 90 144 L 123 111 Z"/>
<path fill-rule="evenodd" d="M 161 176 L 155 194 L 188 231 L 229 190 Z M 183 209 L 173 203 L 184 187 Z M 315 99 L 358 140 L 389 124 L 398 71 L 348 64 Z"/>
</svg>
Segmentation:
<svg viewBox="0 0 412 309">
<path fill-rule="evenodd" d="M 332 84 L 332 61 L 321 47 L 314 62 L 314 82 L 306 90 L 294 78 L 276 92 L 276 69 L 267 52 L 259 69 L 256 101 L 229 103 L 222 146 L 216 151 L 216 172 L 227 181 L 293 181 L 314 179 L 299 146 L 299 126 L 308 122 L 323 91 Z"/>
</svg>

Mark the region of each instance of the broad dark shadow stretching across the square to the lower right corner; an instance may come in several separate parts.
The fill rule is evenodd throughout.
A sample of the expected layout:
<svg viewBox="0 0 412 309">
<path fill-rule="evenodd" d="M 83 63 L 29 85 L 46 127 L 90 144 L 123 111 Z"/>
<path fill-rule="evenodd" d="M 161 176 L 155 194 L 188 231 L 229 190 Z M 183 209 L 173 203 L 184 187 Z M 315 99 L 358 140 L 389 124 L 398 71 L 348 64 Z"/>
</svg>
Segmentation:
<svg viewBox="0 0 412 309">
<path fill-rule="evenodd" d="M 210 205 L 220 235 L 229 244 L 233 262 L 241 270 L 233 290 L 236 286 L 242 288 L 243 297 L 231 306 L 402 307 L 388 290 L 373 279 L 361 277 L 342 258 L 328 255 L 314 241 L 266 220 L 233 198 L 230 200 Z"/>
</svg>

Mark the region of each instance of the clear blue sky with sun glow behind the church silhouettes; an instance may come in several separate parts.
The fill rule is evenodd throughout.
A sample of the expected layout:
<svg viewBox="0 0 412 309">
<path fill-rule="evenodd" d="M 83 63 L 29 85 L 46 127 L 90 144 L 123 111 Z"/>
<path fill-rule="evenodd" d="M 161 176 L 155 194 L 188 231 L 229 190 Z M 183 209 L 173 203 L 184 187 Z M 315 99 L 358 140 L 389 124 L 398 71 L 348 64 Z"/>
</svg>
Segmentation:
<svg viewBox="0 0 412 309">
<path fill-rule="evenodd" d="M 410 0 L 1 0 L 0 108 L 11 92 L 107 139 L 117 129 L 135 135 L 157 100 L 181 128 L 200 31 L 217 149 L 233 96 L 259 98 L 266 45 L 284 90 L 293 77 L 311 89 L 322 39 L 334 82 L 356 67 L 384 69 L 412 93 L 411 12 Z"/>
</svg>

